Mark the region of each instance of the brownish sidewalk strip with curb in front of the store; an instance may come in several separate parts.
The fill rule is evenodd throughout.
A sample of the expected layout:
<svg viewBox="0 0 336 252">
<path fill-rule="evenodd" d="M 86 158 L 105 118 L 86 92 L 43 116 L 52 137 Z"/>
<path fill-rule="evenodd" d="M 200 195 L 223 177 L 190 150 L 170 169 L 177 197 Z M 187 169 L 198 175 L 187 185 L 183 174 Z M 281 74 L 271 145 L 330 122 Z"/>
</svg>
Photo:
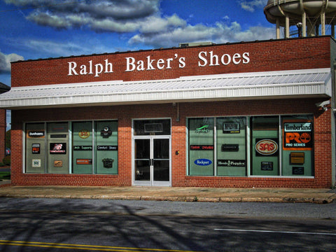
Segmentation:
<svg viewBox="0 0 336 252">
<path fill-rule="evenodd" d="M 11 186 L 0 181 L 0 197 L 44 197 L 181 202 L 336 202 L 336 190 L 293 188 L 180 188 L 146 186 Z"/>
</svg>

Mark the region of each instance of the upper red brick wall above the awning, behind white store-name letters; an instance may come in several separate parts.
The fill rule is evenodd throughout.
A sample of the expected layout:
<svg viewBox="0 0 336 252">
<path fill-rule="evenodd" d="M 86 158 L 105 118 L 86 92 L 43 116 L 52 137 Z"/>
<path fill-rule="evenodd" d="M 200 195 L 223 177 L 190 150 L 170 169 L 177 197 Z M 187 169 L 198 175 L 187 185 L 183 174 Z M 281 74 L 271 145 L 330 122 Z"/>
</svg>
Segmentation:
<svg viewBox="0 0 336 252">
<path fill-rule="evenodd" d="M 12 87 L 104 80 L 156 80 L 218 73 L 324 68 L 330 67 L 330 39 L 329 36 L 295 38 L 16 62 L 12 64 Z M 249 52 L 250 62 L 248 64 L 220 64 L 219 66 L 209 66 L 208 63 L 204 67 L 198 66 L 199 62 L 203 63 L 198 57 L 199 53 L 207 52 L 207 59 L 209 60 L 211 51 L 213 51 L 214 55 L 218 55 L 219 60 L 225 54 L 233 57 L 235 53 L 242 55 L 244 52 Z M 155 70 L 125 71 L 126 57 L 134 57 L 135 62 L 142 60 L 145 66 L 148 61 L 147 57 L 151 57 L 151 60 L 155 59 L 153 62 Z M 179 58 L 181 57 L 185 58 L 186 67 L 179 67 Z M 167 60 L 169 58 L 172 58 L 171 69 L 167 69 L 167 67 L 161 70 L 158 69 L 156 66 L 158 59 Z M 88 68 L 90 60 L 92 60 L 92 65 L 94 66 L 94 64 L 98 63 L 104 64 L 105 59 L 113 63 L 113 73 L 102 73 L 99 77 L 94 77 L 94 74 L 68 75 L 68 62 L 76 62 L 78 68 L 80 65 L 85 64 Z M 167 62 L 161 65 L 167 66 Z"/>
</svg>

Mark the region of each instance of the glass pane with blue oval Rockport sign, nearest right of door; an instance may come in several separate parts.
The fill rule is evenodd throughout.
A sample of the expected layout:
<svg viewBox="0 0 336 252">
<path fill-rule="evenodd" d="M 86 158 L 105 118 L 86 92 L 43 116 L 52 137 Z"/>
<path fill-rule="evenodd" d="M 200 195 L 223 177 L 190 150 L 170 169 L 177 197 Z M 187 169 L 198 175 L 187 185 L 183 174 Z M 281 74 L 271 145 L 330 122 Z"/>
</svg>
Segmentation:
<svg viewBox="0 0 336 252">
<path fill-rule="evenodd" d="M 214 118 L 188 120 L 189 174 L 214 175 Z"/>
</svg>

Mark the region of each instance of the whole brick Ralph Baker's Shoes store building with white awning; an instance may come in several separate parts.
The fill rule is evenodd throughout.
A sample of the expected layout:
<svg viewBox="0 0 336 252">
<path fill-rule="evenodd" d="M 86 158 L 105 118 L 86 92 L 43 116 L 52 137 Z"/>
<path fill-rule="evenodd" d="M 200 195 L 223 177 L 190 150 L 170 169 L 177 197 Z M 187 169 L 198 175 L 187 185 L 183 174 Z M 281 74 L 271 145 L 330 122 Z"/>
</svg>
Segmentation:
<svg viewBox="0 0 336 252">
<path fill-rule="evenodd" d="M 327 188 L 330 36 L 12 63 L 12 183 Z"/>
</svg>

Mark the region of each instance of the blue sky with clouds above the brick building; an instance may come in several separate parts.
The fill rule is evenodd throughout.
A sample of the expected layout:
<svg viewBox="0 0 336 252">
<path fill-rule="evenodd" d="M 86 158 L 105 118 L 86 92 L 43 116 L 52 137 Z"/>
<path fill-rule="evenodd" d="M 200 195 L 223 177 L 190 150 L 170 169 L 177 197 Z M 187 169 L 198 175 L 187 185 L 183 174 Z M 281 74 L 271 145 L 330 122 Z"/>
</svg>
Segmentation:
<svg viewBox="0 0 336 252">
<path fill-rule="evenodd" d="M 0 82 L 10 62 L 179 43 L 275 38 L 267 0 L 0 0 Z"/>
</svg>

